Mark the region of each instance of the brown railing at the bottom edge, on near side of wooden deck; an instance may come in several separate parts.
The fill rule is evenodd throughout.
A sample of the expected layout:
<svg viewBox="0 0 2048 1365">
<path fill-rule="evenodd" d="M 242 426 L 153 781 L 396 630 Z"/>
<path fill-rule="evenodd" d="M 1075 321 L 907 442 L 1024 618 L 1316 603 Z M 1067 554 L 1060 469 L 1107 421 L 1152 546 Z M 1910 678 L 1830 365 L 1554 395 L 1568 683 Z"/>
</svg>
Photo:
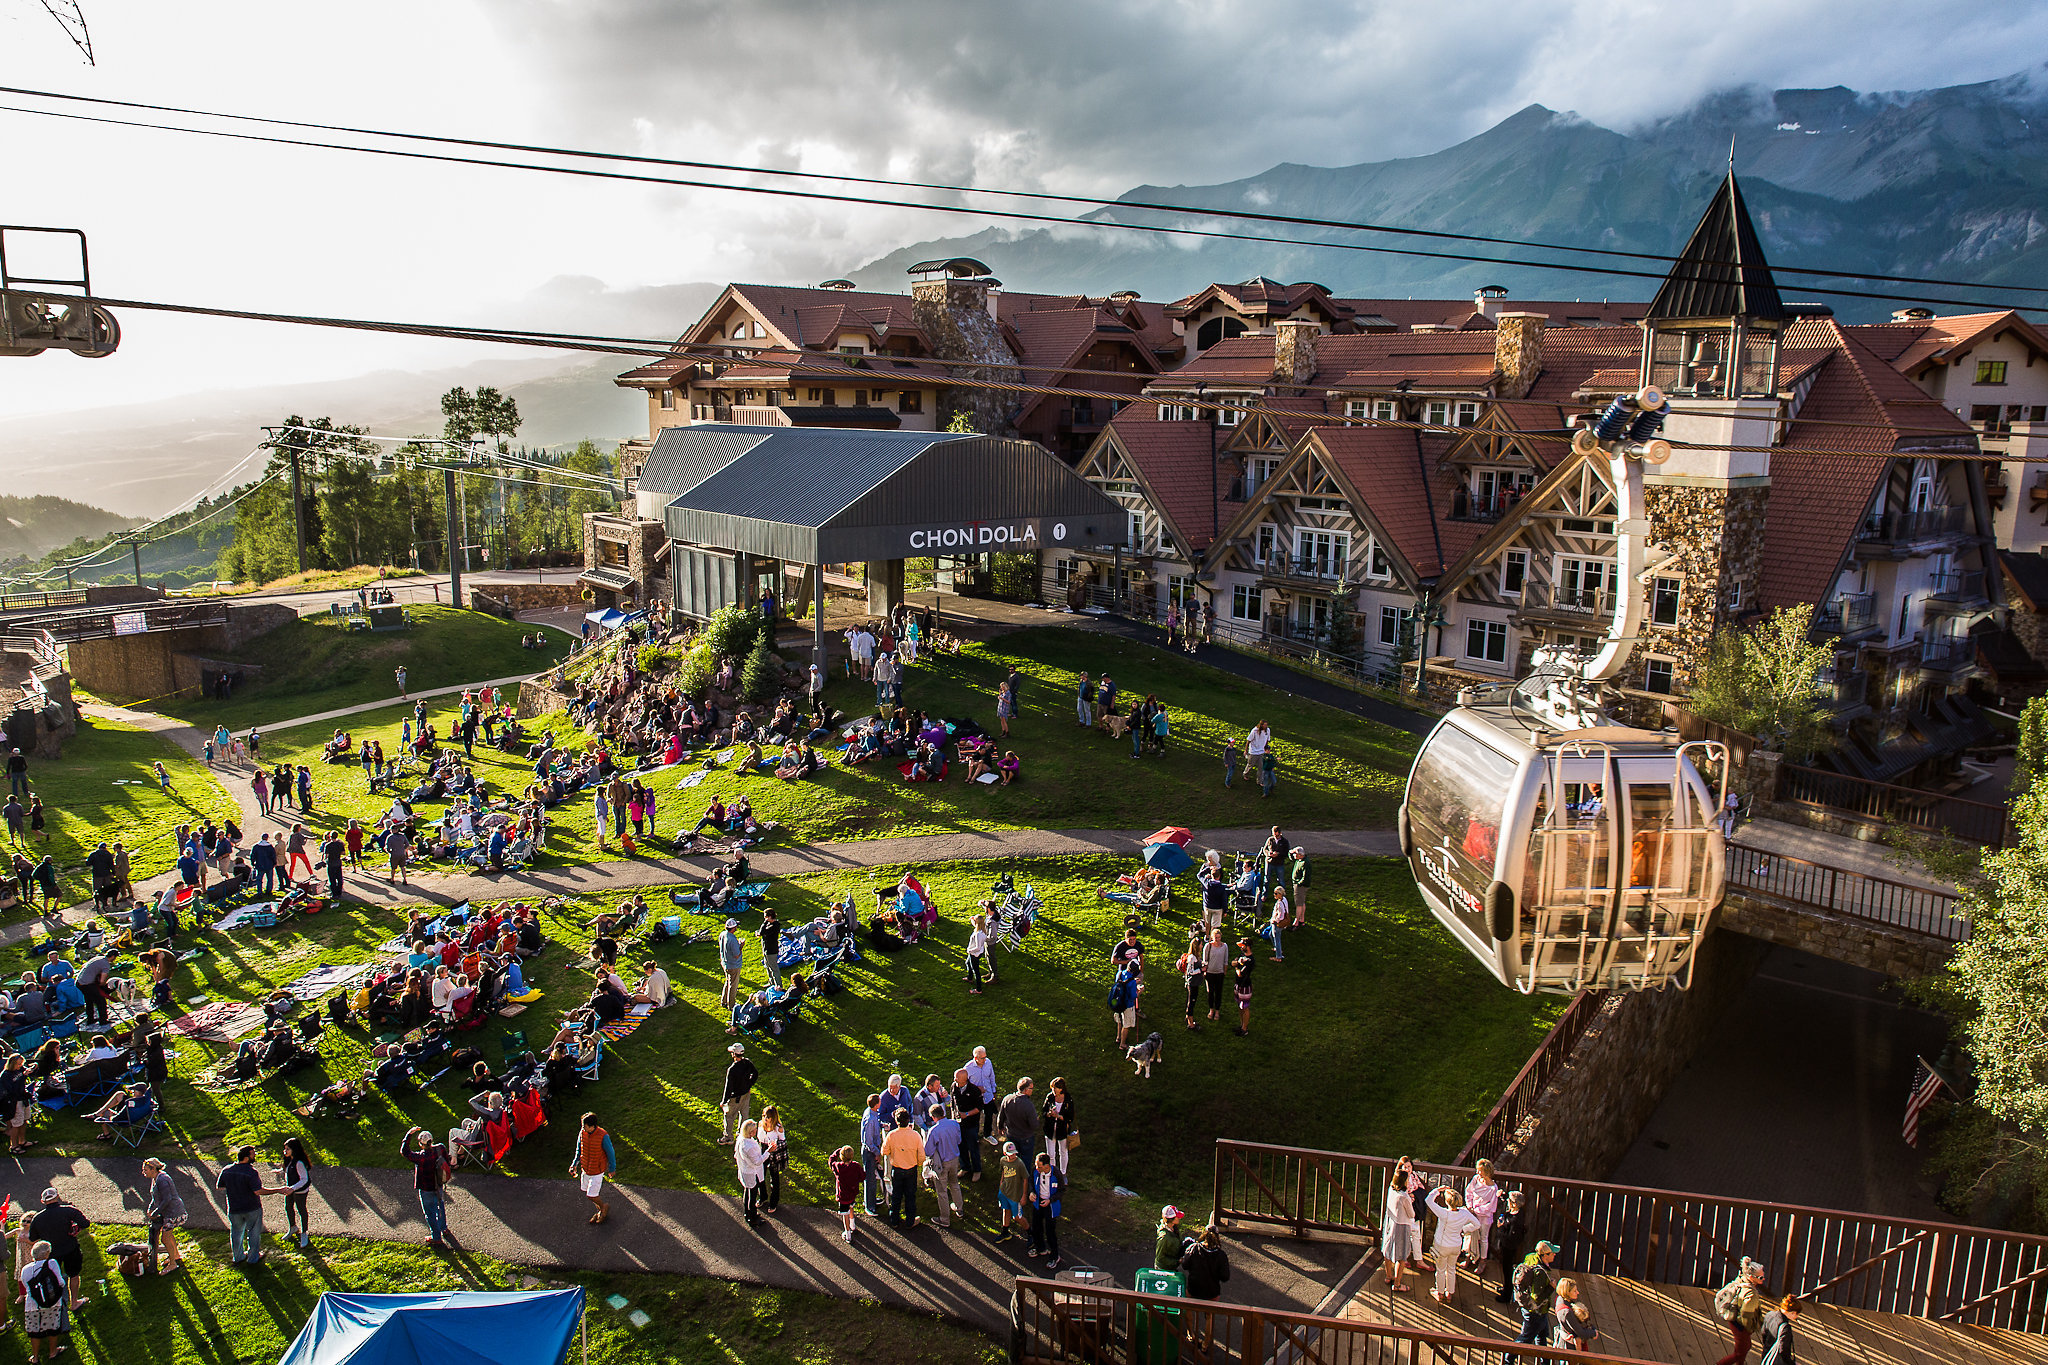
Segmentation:
<svg viewBox="0 0 2048 1365">
<path fill-rule="evenodd" d="M 1495 1365 L 1501 1342 L 1051 1279 L 1020 1279 L 1010 1295 L 1012 1365 L 1143 1365 L 1184 1359 L 1237 1365 Z M 1542 1359 L 1640 1365 L 1632 1357 L 1559 1347 L 1544 1347 Z"/>
</svg>

